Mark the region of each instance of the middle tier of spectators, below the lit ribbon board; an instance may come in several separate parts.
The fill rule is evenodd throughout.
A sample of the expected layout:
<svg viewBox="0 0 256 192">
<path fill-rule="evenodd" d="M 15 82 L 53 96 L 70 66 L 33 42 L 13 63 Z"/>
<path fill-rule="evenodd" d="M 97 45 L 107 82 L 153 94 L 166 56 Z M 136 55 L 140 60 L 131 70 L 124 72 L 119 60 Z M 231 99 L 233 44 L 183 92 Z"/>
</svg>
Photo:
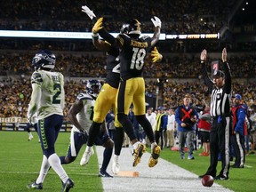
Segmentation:
<svg viewBox="0 0 256 192">
<path fill-rule="evenodd" d="M 33 71 L 33 68 L 31 68 L 31 58 L 35 52 L 4 52 L 0 60 L 0 75 L 22 74 L 30 76 Z M 56 68 L 65 76 L 104 78 L 107 75 L 106 55 L 102 52 L 98 52 L 97 54 L 90 54 L 90 52 L 84 54 L 60 52 L 56 53 L 56 57 Z M 210 58 L 208 60 L 209 68 L 211 68 L 212 60 L 218 60 L 218 58 Z M 255 55 L 242 54 L 229 56 L 228 61 L 233 77 L 255 77 Z M 146 78 L 198 78 L 201 76 L 201 65 L 198 62 L 198 56 L 195 54 L 169 54 L 164 56 L 164 59 L 160 63 L 147 63 L 145 68 L 144 76 Z"/>
</svg>

